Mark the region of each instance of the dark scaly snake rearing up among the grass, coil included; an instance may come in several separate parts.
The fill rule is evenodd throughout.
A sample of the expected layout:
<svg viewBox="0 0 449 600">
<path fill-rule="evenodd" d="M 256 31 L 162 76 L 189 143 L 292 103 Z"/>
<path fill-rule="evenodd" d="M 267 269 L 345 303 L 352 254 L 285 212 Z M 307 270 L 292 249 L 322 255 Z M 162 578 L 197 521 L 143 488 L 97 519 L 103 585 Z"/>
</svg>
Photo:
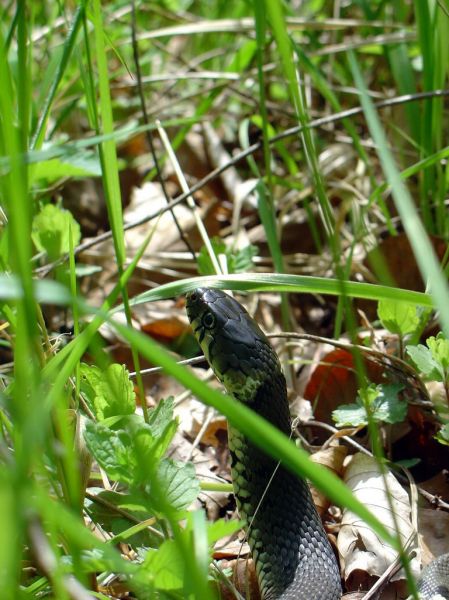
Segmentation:
<svg viewBox="0 0 449 600">
<path fill-rule="evenodd" d="M 291 417 L 279 358 L 259 325 L 214 288 L 186 295 L 194 335 L 228 394 L 287 436 Z M 306 480 L 228 423 L 231 476 L 263 600 L 340 600 L 336 555 Z M 418 581 L 421 600 L 449 599 L 449 554 Z"/>
</svg>

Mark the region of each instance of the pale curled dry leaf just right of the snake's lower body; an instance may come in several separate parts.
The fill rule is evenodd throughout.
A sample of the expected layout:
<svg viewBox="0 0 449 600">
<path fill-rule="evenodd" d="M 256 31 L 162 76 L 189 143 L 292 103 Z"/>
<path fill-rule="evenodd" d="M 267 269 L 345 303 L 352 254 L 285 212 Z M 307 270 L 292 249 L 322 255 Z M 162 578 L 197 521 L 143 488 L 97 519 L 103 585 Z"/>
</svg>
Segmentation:
<svg viewBox="0 0 449 600">
<path fill-rule="evenodd" d="M 409 498 L 391 473 L 387 473 L 384 479 L 375 459 L 359 453 L 352 458 L 346 470 L 345 483 L 356 498 L 393 534 L 396 532 L 396 521 L 403 544 L 409 541 L 414 533 L 410 520 Z M 366 580 L 369 579 L 368 576 L 380 577 L 397 557 L 393 548 L 349 510 L 343 513 L 337 544 L 344 565 L 344 578 L 350 579 L 347 583 L 349 587 L 356 584 L 356 580 L 358 583 L 363 581 L 364 575 Z M 412 548 L 418 553 L 415 542 Z M 412 559 L 410 566 L 413 574 L 417 576 L 420 571 L 418 558 Z M 401 570 L 392 580 L 403 578 Z"/>
</svg>

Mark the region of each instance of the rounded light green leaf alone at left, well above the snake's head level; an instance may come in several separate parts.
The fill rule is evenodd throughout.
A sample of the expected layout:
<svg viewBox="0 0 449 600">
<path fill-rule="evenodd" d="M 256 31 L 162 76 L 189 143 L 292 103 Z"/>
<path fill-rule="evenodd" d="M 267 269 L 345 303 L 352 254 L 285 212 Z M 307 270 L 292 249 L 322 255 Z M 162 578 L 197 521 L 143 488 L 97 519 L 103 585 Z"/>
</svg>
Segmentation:
<svg viewBox="0 0 449 600">
<path fill-rule="evenodd" d="M 69 252 L 70 227 L 73 245 L 76 246 L 80 242 L 81 231 L 72 214 L 68 210 L 47 204 L 33 219 L 31 237 L 40 252 L 46 252 L 50 260 L 57 260 Z"/>
</svg>

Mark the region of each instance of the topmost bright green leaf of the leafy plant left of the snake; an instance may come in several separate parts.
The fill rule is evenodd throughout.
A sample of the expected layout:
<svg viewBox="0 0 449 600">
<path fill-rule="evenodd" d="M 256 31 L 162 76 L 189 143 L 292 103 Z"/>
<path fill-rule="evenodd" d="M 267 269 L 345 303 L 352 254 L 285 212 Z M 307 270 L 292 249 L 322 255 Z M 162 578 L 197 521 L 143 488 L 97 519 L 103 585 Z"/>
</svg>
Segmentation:
<svg viewBox="0 0 449 600">
<path fill-rule="evenodd" d="M 102 370 L 82 364 L 81 377 L 83 391 L 99 421 L 135 412 L 136 395 L 124 365 L 112 364 Z"/>
</svg>

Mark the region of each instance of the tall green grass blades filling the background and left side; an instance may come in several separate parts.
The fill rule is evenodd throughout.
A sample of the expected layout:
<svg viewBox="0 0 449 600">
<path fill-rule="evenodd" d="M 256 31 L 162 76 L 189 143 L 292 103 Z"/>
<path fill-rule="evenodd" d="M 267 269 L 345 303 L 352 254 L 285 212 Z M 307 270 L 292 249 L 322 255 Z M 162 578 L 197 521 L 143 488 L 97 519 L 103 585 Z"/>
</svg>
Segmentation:
<svg viewBox="0 0 449 600">
<path fill-rule="evenodd" d="M 6 331 L 2 347 L 12 357 L 10 365 L 6 359 L 3 365 L 0 396 L 0 589 L 5 600 L 42 594 L 61 599 L 88 594 L 105 598 L 102 585 L 111 574 L 133 581 L 139 598 L 151 597 L 152 590 L 159 589 L 157 568 L 164 565 L 150 558 L 160 542 L 146 539 L 149 551 L 139 566 L 120 556 L 111 543 L 100 541 L 83 521 L 89 502 L 84 497 L 82 449 L 74 442 L 72 419 L 79 422 L 80 415 L 85 416 L 80 402 L 80 362 L 87 351 L 102 356 L 98 333 L 105 322 L 129 343 L 138 374 L 142 357 L 162 366 L 167 375 L 238 424 L 255 443 L 311 479 L 400 549 L 398 539 L 336 477 L 312 468 L 306 454 L 272 426 L 177 365 L 156 342 L 133 329 L 131 317 L 133 305 L 180 296 L 201 284 L 284 293 L 284 328 L 293 323 L 287 294 L 307 292 L 337 298 L 336 334 L 356 334 L 353 300 L 365 298 L 432 306 L 449 335 L 447 282 L 429 242 L 429 234 L 445 241 L 448 234 L 446 101 L 437 98 L 418 104 L 411 98 L 393 114 L 376 113 L 370 98 L 370 94 L 391 97 L 447 87 L 448 17 L 439 3 L 430 0 L 416 0 L 413 5 L 398 0 L 379 3 L 377 8 L 366 2 L 352 3 L 336 19 L 328 6 L 331 3 L 317 8 L 320 3 L 303 2 L 299 15 L 287 14 L 278 0 L 206 4 L 137 3 L 140 60 L 146 76 L 173 72 L 175 67 L 175 73 L 189 75 L 179 81 L 175 78 L 165 88 L 154 83 L 145 87 L 149 127 L 156 129 L 159 119 L 172 136 L 174 151 L 181 152 L 192 126 L 203 120 L 221 128 L 234 144 L 241 123 L 261 124 L 262 161 L 253 161 L 250 168 L 240 163 L 238 168 L 243 178 L 257 179 L 258 218 L 275 273 L 179 278 L 134 298 L 129 298 L 128 286 L 152 232 L 137 254 L 127 257 L 117 145 L 136 131 L 148 129 L 136 125 L 138 94 L 128 90 L 121 95 L 116 85 L 124 80 L 129 83 L 125 76 L 133 72 L 130 11 L 123 3 L 102 4 L 100 0 L 80 1 L 73 8 L 30 0 L 1 9 L 0 204 L 5 219 L 0 240 L 0 310 L 2 331 Z M 253 20 L 240 21 L 247 17 Z M 345 21 L 349 18 L 354 20 Z M 404 33 L 403 38 L 395 37 L 398 32 Z M 158 36 L 164 36 L 162 43 Z M 360 38 L 365 42 L 359 44 Z M 182 53 L 176 54 L 170 44 L 176 48 L 180 40 Z M 355 49 L 350 50 L 352 46 Z M 194 77 L 198 72 L 203 79 Z M 334 124 L 312 130 L 309 126 L 317 110 L 329 114 L 359 104 L 363 119 L 347 118 L 341 128 Z M 300 135 L 289 142 L 270 140 L 273 132 L 296 126 Z M 341 207 L 333 202 L 321 160 L 323 149 L 337 138 L 349 140 L 357 164 L 364 165 L 369 189 L 361 206 L 351 197 L 348 218 L 342 217 Z M 37 261 L 32 220 L 49 202 L 49 190 L 60 181 L 58 173 L 64 164 L 92 159 L 88 148 L 94 148 L 93 159 L 100 165 L 117 278 L 101 306 L 86 302 L 79 293 L 71 237 L 69 256 L 61 257 L 68 264 L 70 293 L 61 283 L 44 289 L 47 301 L 64 303 L 67 318 L 74 322 L 76 335 L 58 347 L 53 345 L 55 332 L 49 329 L 38 300 L 42 287 L 35 285 L 33 273 Z M 162 163 L 167 162 L 163 147 L 159 151 Z M 154 174 L 151 160 L 147 157 L 149 176 Z M 44 191 L 34 178 L 36 166 L 46 168 Z M 316 254 L 328 265 L 316 277 L 289 274 L 283 256 L 283 211 L 289 216 L 285 198 L 308 187 L 311 191 L 292 208 L 298 204 L 308 215 Z M 364 195 L 365 190 L 357 191 Z M 394 235 L 396 215 L 427 284 L 425 293 L 351 277 L 360 242 L 376 236 L 381 227 Z M 53 272 L 46 277 L 51 280 Z M 125 311 L 127 325 L 116 319 L 118 305 Z M 139 375 L 138 387 L 140 398 L 145 398 Z M 148 423 L 145 403 L 143 416 Z M 194 512 L 185 530 L 179 515 L 157 516 L 162 521 L 161 536 L 174 540 L 174 550 L 169 545 L 165 548 L 172 548 L 168 556 L 172 562 L 173 557 L 178 559 L 182 574 L 179 587 L 170 592 L 172 597 L 213 597 L 206 583 L 209 549 L 202 513 Z M 163 552 L 159 556 L 165 556 Z M 101 560 L 96 563 L 95 557 Z M 28 563 L 31 574 L 23 569 Z"/>
</svg>

